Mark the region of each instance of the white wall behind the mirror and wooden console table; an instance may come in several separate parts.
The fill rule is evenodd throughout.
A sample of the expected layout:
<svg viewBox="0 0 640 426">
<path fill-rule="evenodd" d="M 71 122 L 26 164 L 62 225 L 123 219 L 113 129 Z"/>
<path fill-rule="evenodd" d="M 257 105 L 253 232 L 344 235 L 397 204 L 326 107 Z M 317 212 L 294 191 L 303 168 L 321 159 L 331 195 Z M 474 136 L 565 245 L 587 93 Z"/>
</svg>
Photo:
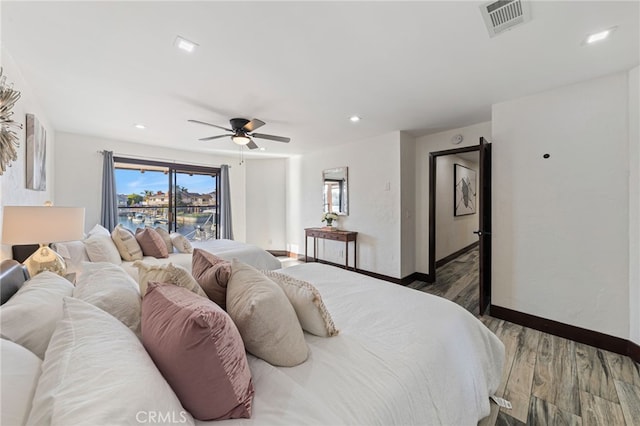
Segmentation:
<svg viewBox="0 0 640 426">
<path fill-rule="evenodd" d="M 289 250 L 304 254 L 304 228 L 323 226 L 322 170 L 347 166 L 349 216 L 340 216 L 338 226 L 358 232 L 359 269 L 400 278 L 400 138 L 392 132 L 287 160 Z M 344 262 L 343 244 L 318 240 L 318 245 L 324 259 Z M 312 254 L 311 239 L 309 247 Z"/>
</svg>

